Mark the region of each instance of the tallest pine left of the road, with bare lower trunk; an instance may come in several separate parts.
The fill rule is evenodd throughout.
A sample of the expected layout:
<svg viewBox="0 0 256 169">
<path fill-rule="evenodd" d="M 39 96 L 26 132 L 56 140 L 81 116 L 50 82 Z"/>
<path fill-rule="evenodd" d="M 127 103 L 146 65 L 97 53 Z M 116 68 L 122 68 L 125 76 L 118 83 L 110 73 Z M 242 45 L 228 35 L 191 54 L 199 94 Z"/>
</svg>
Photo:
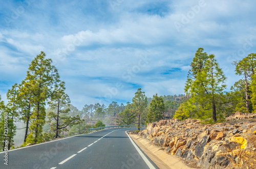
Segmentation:
<svg viewBox="0 0 256 169">
<path fill-rule="evenodd" d="M 46 59 L 46 54 L 41 51 L 39 55 L 29 65 L 27 77 L 24 82 L 31 91 L 31 102 L 33 105 L 32 121 L 30 125 L 31 133 L 28 135 L 27 143 L 40 143 L 42 141 L 42 126 L 46 123 L 45 105 L 56 91 L 59 74 L 51 59 Z"/>
</svg>

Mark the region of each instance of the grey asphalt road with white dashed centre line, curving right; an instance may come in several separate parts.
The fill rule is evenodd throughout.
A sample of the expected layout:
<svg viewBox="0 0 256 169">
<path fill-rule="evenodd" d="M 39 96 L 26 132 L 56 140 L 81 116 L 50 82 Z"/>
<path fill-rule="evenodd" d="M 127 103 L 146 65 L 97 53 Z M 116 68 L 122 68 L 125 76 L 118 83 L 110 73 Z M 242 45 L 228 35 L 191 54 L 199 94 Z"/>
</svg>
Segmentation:
<svg viewBox="0 0 256 169">
<path fill-rule="evenodd" d="M 131 128 L 106 129 L 53 142 L 1 152 L 0 168 L 157 168 L 134 146 L 125 131 Z"/>
</svg>

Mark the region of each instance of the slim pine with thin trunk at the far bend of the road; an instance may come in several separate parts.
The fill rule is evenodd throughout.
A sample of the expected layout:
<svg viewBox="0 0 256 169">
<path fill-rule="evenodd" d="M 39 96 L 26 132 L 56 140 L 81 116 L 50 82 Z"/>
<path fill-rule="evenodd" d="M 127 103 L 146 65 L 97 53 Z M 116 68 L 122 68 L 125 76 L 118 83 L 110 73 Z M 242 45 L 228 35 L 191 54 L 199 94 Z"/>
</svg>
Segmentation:
<svg viewBox="0 0 256 169">
<path fill-rule="evenodd" d="M 140 117 L 143 114 L 144 109 L 147 106 L 147 102 L 145 100 L 145 92 L 141 91 L 141 88 L 139 88 L 137 90 L 137 92 L 135 93 L 135 96 L 133 98 L 133 109 L 136 112 L 136 115 L 138 116 L 138 130 L 140 130 Z"/>
</svg>

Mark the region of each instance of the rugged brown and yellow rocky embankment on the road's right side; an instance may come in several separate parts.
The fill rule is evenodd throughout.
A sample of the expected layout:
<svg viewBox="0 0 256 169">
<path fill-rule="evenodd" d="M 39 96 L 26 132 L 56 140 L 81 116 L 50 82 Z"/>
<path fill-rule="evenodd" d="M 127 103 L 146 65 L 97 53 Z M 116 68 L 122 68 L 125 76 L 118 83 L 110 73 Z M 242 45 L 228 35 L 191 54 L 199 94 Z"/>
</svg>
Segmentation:
<svg viewBox="0 0 256 169">
<path fill-rule="evenodd" d="M 200 120 L 161 120 L 149 123 L 138 135 L 167 153 L 201 168 L 256 168 L 256 114 L 237 112 L 225 123 Z"/>
</svg>

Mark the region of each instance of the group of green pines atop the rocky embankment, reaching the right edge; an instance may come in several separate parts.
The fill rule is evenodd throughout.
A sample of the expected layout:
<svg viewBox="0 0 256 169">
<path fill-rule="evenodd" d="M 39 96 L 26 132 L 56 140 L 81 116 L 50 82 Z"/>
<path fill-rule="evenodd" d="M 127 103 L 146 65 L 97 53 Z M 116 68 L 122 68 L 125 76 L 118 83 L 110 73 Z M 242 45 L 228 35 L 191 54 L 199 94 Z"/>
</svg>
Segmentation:
<svg viewBox="0 0 256 169">
<path fill-rule="evenodd" d="M 182 103 L 174 118 L 201 119 L 208 123 L 221 122 L 233 112 L 256 111 L 256 53 L 250 53 L 235 66 L 235 73 L 241 76 L 226 91 L 225 80 L 214 54 L 207 54 L 199 48 L 190 64 L 185 93 L 189 99 Z M 231 65 L 230 65 L 231 66 Z"/>
</svg>

